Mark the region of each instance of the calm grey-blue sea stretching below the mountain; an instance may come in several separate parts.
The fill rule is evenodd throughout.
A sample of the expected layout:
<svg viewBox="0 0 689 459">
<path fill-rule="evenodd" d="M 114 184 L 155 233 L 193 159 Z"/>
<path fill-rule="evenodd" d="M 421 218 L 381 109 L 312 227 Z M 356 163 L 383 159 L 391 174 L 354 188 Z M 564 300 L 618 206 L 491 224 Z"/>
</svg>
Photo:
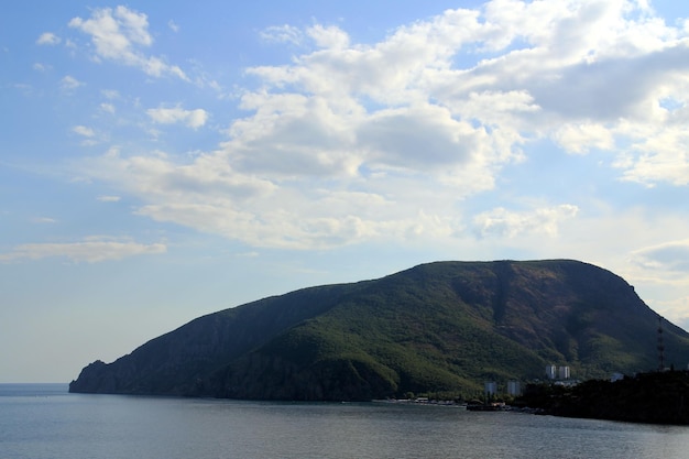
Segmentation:
<svg viewBox="0 0 689 459">
<path fill-rule="evenodd" d="M 413 403 L 69 394 L 0 384 L 0 458 L 687 458 L 689 427 Z"/>
</svg>

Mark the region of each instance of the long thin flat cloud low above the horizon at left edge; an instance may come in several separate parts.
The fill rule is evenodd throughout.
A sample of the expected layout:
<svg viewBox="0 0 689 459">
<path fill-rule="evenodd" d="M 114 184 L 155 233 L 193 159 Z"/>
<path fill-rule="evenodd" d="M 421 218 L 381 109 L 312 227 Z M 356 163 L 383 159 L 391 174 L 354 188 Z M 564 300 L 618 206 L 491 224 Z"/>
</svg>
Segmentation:
<svg viewBox="0 0 689 459">
<path fill-rule="evenodd" d="M 151 255 L 166 252 L 162 243 L 141 244 L 129 240 L 108 238 L 88 238 L 72 243 L 31 243 L 15 247 L 11 252 L 0 253 L 0 262 L 9 263 L 22 260 L 46 258 L 66 258 L 75 263 L 99 263 L 122 260 L 129 256 Z"/>
</svg>

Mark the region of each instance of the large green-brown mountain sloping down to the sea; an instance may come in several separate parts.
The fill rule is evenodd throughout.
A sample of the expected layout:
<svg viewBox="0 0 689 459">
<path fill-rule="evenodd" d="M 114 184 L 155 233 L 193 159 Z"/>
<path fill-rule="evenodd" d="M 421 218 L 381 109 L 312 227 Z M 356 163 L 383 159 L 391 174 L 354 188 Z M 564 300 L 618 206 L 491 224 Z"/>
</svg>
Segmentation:
<svg viewBox="0 0 689 459">
<path fill-rule="evenodd" d="M 484 381 L 657 368 L 658 315 L 620 276 L 571 260 L 436 262 L 199 317 L 70 392 L 350 401 L 471 396 Z M 689 334 L 663 321 L 665 361 Z"/>
</svg>

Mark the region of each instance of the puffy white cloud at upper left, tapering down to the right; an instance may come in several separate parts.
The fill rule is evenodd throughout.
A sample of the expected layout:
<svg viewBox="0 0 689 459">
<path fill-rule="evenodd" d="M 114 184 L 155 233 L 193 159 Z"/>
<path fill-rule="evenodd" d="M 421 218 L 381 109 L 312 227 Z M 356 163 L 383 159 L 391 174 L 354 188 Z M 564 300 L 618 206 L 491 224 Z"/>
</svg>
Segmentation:
<svg viewBox="0 0 689 459">
<path fill-rule="evenodd" d="M 171 75 L 188 80 L 176 65 L 161 57 L 149 56 L 143 50 L 153 43 L 149 33 L 149 19 L 144 13 L 127 7 L 95 9 L 89 19 L 74 18 L 69 26 L 90 35 L 97 59 L 108 59 L 138 67 L 146 75 L 161 77 Z"/>
</svg>

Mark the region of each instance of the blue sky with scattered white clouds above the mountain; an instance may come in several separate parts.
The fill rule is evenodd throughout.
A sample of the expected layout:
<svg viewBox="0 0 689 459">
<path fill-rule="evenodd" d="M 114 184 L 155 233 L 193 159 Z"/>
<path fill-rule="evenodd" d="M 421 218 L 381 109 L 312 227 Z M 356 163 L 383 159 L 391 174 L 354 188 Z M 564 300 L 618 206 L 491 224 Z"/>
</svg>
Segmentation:
<svg viewBox="0 0 689 459">
<path fill-rule="evenodd" d="M 12 2 L 0 382 L 442 260 L 575 259 L 689 328 L 689 3 Z"/>
</svg>

